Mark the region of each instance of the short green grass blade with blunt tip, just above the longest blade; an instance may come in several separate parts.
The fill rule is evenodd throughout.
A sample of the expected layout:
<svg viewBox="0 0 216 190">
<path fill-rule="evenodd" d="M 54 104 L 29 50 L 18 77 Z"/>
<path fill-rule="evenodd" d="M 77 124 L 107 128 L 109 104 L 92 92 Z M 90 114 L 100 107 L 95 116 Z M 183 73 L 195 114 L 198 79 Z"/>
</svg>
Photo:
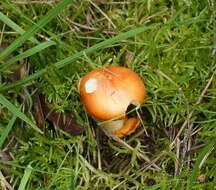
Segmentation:
<svg viewBox="0 0 216 190">
<path fill-rule="evenodd" d="M 37 45 L 37 46 L 35 46 L 35 47 L 33 47 L 33 48 L 31 48 L 31 49 L 25 51 L 25 52 L 23 52 L 23 53 L 17 55 L 16 57 L 13 57 L 13 58 L 10 59 L 9 61 L 7 61 L 7 62 L 1 64 L 1 65 L 0 65 L 0 68 L 4 67 L 4 66 L 6 66 L 6 65 L 10 65 L 10 64 L 12 64 L 12 63 L 14 63 L 14 62 L 16 62 L 16 61 L 19 61 L 19 60 L 25 59 L 25 58 L 27 58 L 27 57 L 30 57 L 30 56 L 32 56 L 32 55 L 34 55 L 34 54 L 36 54 L 36 53 L 42 51 L 43 49 L 46 49 L 46 48 L 49 47 L 49 46 L 52 46 L 52 45 L 56 45 L 56 42 L 54 42 L 54 41 L 46 41 L 46 42 L 43 42 L 43 43 L 41 43 L 41 44 L 39 44 L 39 45 Z"/>
</svg>

